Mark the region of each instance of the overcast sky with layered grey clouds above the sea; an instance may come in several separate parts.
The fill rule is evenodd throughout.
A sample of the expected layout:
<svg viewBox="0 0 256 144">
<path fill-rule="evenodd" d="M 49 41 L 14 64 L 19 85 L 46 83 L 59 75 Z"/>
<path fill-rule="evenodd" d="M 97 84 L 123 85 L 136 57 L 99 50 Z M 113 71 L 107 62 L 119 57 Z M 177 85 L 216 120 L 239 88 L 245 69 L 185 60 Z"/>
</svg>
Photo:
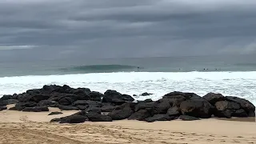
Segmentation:
<svg viewBox="0 0 256 144">
<path fill-rule="evenodd" d="M 1 0 L 0 59 L 256 54 L 255 0 Z"/>
</svg>

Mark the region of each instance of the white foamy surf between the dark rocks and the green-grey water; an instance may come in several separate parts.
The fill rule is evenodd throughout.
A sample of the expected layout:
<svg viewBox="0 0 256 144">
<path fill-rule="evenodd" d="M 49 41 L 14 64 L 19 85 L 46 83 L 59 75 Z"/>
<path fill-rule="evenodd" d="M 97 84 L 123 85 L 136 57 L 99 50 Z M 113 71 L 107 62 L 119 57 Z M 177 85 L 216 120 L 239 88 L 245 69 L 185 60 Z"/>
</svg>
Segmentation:
<svg viewBox="0 0 256 144">
<path fill-rule="evenodd" d="M 209 92 L 246 98 L 256 104 L 256 71 L 241 72 L 118 72 L 66 75 L 27 75 L 0 78 L 0 97 L 22 93 L 44 85 L 87 87 L 104 93 L 117 90 L 134 96 L 136 100 L 156 100 L 171 91 L 193 92 L 203 96 Z"/>
</svg>

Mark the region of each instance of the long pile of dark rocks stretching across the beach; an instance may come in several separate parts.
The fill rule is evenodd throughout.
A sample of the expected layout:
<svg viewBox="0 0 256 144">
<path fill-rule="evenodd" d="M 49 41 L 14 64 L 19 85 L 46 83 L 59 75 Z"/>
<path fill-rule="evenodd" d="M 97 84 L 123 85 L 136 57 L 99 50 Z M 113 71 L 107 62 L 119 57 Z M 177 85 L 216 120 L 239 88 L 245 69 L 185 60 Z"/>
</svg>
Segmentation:
<svg viewBox="0 0 256 144">
<path fill-rule="evenodd" d="M 111 122 L 126 118 L 155 122 L 177 118 L 187 121 L 212 117 L 255 117 L 255 106 L 246 99 L 214 93 L 200 97 L 194 93 L 174 91 L 158 101 L 134 102 L 133 97 L 116 90 L 106 90 L 101 94 L 88 88 L 50 85 L 22 94 L 5 95 L 0 98 L 0 110 L 6 110 L 6 105 L 14 103 L 16 105 L 9 110 L 41 112 L 49 111 L 48 107 L 80 110 L 51 120 L 60 123 Z"/>
</svg>

